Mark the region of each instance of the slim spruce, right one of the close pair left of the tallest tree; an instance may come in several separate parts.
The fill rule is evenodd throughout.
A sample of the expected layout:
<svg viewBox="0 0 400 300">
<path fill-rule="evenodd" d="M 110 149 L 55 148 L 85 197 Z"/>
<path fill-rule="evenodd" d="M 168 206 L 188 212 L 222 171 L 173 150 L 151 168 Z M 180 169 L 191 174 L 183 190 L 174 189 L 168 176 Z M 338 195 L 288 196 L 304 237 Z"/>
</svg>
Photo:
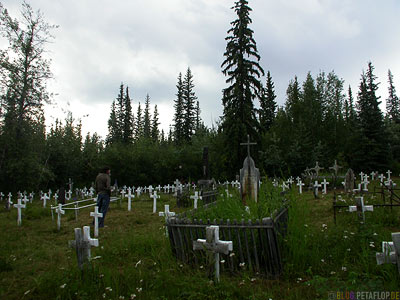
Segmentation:
<svg viewBox="0 0 400 300">
<path fill-rule="evenodd" d="M 196 95 L 194 92 L 193 75 L 190 68 L 187 69 L 183 80 L 183 139 L 190 141 L 195 131 Z"/>
</svg>

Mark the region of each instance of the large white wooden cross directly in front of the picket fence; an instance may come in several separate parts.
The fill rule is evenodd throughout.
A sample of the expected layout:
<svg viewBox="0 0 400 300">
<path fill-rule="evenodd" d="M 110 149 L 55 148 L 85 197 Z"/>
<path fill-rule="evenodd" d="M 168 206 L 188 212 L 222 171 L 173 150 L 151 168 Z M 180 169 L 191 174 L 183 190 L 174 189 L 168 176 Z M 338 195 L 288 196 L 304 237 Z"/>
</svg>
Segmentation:
<svg viewBox="0 0 400 300">
<path fill-rule="evenodd" d="M 219 226 L 206 227 L 206 239 L 193 241 L 193 250 L 208 250 L 214 253 L 215 279 L 219 282 L 219 254 L 233 250 L 232 241 L 219 240 Z"/>
</svg>

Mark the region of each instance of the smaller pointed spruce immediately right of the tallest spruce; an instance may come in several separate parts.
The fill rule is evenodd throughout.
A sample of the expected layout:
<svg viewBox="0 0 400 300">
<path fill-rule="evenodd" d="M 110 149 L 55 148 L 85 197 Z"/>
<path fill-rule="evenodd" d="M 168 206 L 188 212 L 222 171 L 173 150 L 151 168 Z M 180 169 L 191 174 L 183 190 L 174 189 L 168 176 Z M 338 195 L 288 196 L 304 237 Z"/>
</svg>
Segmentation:
<svg viewBox="0 0 400 300">
<path fill-rule="evenodd" d="M 267 72 L 267 82 L 265 86 L 264 96 L 260 101 L 259 119 L 262 131 L 266 132 L 272 126 L 276 113 L 276 95 L 274 90 L 274 82 L 271 73 Z"/>
</svg>

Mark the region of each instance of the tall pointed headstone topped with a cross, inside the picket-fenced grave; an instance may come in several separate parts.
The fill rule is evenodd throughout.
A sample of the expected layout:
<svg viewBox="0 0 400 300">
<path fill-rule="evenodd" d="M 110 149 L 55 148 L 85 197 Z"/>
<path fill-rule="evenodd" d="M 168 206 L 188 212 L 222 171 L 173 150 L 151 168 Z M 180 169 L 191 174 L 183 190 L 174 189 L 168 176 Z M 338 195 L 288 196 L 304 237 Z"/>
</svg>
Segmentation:
<svg viewBox="0 0 400 300">
<path fill-rule="evenodd" d="M 240 145 L 247 146 L 247 157 L 243 162 L 243 168 L 240 170 L 240 193 L 242 202 L 245 205 L 247 198 L 257 202 L 260 171 L 256 168 L 254 160 L 250 156 L 250 146 L 256 145 L 256 143 L 251 143 L 250 136 L 247 135 L 247 143 L 240 143 Z"/>
</svg>

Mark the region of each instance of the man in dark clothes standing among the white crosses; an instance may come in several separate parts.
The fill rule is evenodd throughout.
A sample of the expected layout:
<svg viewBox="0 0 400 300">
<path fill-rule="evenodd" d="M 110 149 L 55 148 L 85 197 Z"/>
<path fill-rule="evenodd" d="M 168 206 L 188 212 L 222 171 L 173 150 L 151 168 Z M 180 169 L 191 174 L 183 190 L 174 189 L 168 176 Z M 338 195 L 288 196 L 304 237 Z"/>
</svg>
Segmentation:
<svg viewBox="0 0 400 300">
<path fill-rule="evenodd" d="M 99 212 L 103 214 L 103 217 L 99 218 L 99 227 L 104 227 L 104 219 L 106 218 L 108 206 L 110 205 L 110 174 L 110 168 L 104 167 L 96 177 L 97 206 L 99 207 Z"/>
</svg>

